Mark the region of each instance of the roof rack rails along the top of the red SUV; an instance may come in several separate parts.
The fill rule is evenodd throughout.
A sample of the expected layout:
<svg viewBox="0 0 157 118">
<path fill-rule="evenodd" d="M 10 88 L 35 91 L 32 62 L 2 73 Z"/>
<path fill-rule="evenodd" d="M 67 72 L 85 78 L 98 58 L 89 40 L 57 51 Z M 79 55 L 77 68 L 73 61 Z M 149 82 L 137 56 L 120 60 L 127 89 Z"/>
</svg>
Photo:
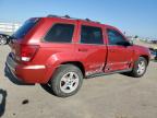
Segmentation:
<svg viewBox="0 0 157 118">
<path fill-rule="evenodd" d="M 82 19 L 71 17 L 71 16 L 69 16 L 69 15 L 59 16 L 59 15 L 53 15 L 53 14 L 49 14 L 49 15 L 47 15 L 47 17 L 61 17 L 61 19 L 71 19 L 71 20 L 82 20 Z M 89 20 L 89 19 L 85 19 L 85 20 L 83 20 L 83 21 L 100 23 L 100 22 L 97 22 L 97 21 L 92 21 L 92 20 Z"/>
</svg>

